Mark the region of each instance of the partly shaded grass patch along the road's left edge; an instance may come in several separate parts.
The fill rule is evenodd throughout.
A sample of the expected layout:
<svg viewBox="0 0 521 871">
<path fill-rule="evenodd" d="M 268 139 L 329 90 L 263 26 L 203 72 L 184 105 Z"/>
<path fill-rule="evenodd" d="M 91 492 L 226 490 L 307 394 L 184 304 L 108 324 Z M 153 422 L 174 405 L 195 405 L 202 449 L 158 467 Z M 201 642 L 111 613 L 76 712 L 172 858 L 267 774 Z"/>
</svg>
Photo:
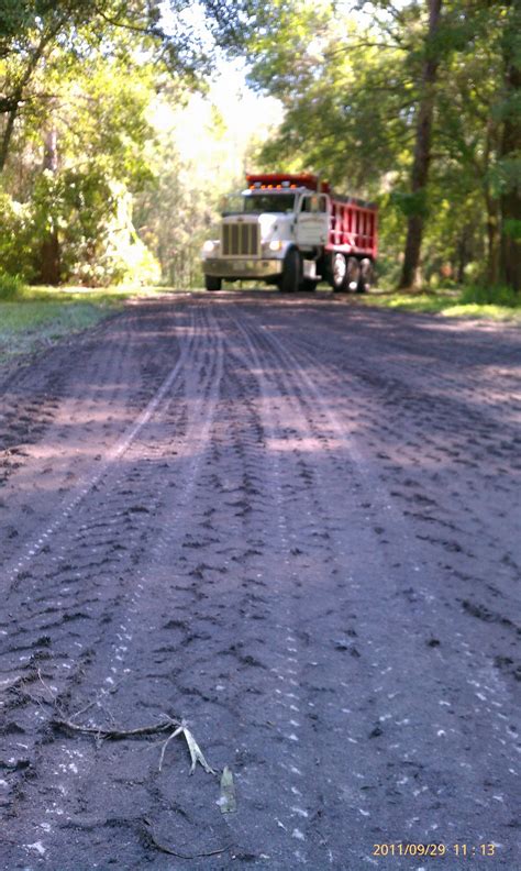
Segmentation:
<svg viewBox="0 0 521 871">
<path fill-rule="evenodd" d="M 0 283 L 0 363 L 49 348 L 65 337 L 95 327 L 125 300 L 165 288 L 26 287 Z"/>
</svg>

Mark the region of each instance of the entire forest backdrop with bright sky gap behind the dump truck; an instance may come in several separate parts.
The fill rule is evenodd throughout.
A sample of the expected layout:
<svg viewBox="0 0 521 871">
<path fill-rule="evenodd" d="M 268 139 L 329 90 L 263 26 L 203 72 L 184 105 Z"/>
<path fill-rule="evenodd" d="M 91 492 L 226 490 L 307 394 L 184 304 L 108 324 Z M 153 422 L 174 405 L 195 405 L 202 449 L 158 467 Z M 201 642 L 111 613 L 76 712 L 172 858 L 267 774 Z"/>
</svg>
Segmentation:
<svg viewBox="0 0 521 871">
<path fill-rule="evenodd" d="M 0 0 L 0 297 L 200 285 L 246 168 L 377 200 L 388 288 L 519 299 L 521 0 Z"/>
</svg>

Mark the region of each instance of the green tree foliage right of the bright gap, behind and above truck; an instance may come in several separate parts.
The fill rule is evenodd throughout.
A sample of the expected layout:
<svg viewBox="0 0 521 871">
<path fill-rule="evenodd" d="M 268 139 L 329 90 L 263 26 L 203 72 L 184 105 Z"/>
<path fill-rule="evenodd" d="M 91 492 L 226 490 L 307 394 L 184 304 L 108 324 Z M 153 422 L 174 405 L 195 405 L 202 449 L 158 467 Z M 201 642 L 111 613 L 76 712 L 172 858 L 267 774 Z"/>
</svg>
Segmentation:
<svg viewBox="0 0 521 871">
<path fill-rule="evenodd" d="M 251 79 L 286 108 L 263 150 L 266 169 L 320 172 L 339 190 L 377 198 L 380 274 L 389 279 L 412 216 L 424 219 L 426 283 L 497 272 L 501 235 L 519 238 L 519 3 L 444 2 L 431 40 L 429 4 L 413 0 L 375 0 L 356 15 L 344 3 L 307 0 L 241 9 Z M 411 195 L 425 59 L 437 64 L 432 158 L 428 186 Z"/>
</svg>

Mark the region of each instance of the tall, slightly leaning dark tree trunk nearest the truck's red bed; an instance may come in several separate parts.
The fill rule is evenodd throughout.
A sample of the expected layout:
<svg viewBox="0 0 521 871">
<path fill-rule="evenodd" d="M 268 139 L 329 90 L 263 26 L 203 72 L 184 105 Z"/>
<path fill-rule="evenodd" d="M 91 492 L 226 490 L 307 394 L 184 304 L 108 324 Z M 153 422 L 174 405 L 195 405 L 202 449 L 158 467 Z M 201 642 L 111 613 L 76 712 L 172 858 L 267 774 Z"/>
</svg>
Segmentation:
<svg viewBox="0 0 521 871">
<path fill-rule="evenodd" d="M 429 0 L 429 29 L 425 37 L 422 90 L 418 109 L 417 136 L 411 172 L 412 213 L 407 227 L 407 241 L 401 273 L 400 289 L 413 289 L 420 283 L 420 253 L 425 219 L 425 188 L 431 163 L 431 134 L 434 113 L 434 85 L 436 82 L 439 55 L 435 37 L 440 27 L 443 0 Z"/>
</svg>

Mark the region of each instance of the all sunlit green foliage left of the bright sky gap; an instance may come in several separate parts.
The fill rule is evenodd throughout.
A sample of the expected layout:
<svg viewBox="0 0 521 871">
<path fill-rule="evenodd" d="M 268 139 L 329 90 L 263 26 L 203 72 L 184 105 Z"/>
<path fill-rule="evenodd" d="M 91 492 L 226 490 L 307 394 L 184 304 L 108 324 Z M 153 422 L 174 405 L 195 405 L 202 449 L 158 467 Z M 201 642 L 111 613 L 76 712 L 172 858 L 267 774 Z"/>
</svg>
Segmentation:
<svg viewBox="0 0 521 871">
<path fill-rule="evenodd" d="M 133 199 L 154 180 L 156 93 L 182 101 L 209 69 L 200 30 L 184 0 L 0 0 L 8 273 L 37 279 L 52 256 L 62 280 L 158 279 Z"/>
</svg>

